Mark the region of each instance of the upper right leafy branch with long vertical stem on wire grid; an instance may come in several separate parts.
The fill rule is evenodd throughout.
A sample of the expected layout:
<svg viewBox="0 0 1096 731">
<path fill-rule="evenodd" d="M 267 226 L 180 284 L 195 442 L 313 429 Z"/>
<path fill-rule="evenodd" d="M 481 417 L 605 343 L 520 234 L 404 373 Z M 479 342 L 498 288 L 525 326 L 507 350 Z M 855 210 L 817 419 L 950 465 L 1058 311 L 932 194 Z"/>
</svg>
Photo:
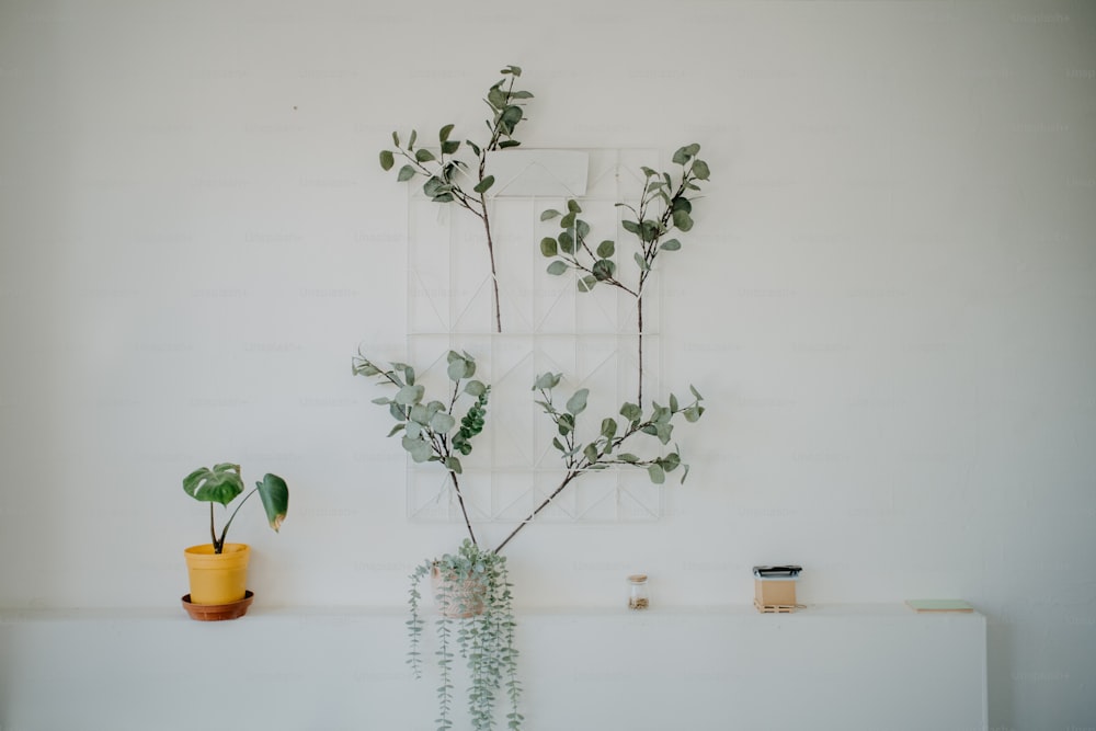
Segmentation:
<svg viewBox="0 0 1096 731">
<path fill-rule="evenodd" d="M 625 218 L 620 226 L 635 235 L 637 241 L 632 261 L 638 267 L 633 284 L 626 284 L 617 272 L 614 261 L 616 243 L 606 239 L 594 247 L 587 242 L 590 224 L 579 218 L 582 207 L 578 201 L 567 202 L 567 212 L 549 208 L 540 214 L 540 220 L 559 218 L 561 231 L 556 237 L 540 240 L 540 253 L 551 259 L 548 274 L 559 276 L 568 271 L 578 275 L 579 292 L 590 292 L 598 284 L 617 287 L 636 299 L 637 351 L 639 363 L 639 387 L 636 401 L 643 406 L 643 294 L 648 277 L 654 269 L 660 252 L 680 251 L 678 239 L 667 239 L 674 230 L 687 232 L 693 228 L 693 195 L 700 191 L 697 181 L 707 181 L 708 163 L 696 156 L 700 152 L 697 144 L 678 148 L 673 162 L 681 167 L 676 178 L 669 172 L 658 172 L 643 167 L 643 193 L 638 207 L 626 203 L 616 204 L 631 212 L 635 219 Z M 692 197 L 690 197 L 692 196 Z"/>
</svg>

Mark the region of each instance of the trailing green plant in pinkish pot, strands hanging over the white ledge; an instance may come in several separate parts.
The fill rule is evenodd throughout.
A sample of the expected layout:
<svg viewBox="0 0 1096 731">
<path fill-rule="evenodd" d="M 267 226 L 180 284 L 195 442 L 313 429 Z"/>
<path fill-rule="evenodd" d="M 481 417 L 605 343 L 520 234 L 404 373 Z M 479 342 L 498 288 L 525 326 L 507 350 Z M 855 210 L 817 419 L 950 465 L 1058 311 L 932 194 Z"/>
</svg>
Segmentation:
<svg viewBox="0 0 1096 731">
<path fill-rule="evenodd" d="M 441 685 L 437 688 L 439 729 L 452 728 L 454 696 L 454 663 L 456 655 L 468 667 L 468 713 L 472 728 L 494 728 L 494 705 L 505 693 L 510 705 L 511 729 L 524 720 L 517 710 L 522 686 L 517 679 L 517 649 L 514 646 L 513 594 L 506 572 L 506 558 L 465 540 L 456 553 L 426 560 L 415 567 L 410 576 L 407 623 L 410 638 L 408 664 L 415 677 L 422 677 L 422 632 L 426 620 L 422 614 L 423 580 L 437 574 L 434 601 L 441 609 L 434 620 L 437 635 L 437 659 Z"/>
</svg>

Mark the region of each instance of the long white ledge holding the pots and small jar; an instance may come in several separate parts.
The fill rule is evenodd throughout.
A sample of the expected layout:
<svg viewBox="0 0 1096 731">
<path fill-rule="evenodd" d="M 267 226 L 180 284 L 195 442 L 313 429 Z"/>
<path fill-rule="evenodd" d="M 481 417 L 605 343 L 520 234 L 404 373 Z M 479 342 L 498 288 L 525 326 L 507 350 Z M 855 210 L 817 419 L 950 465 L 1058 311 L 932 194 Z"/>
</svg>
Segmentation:
<svg viewBox="0 0 1096 731">
<path fill-rule="evenodd" d="M 0 727 L 432 729 L 436 678 L 410 677 L 404 620 L 396 607 L 259 606 L 225 623 L 181 607 L 0 612 Z M 977 613 L 546 608 L 518 623 L 527 731 L 986 727 Z"/>
</svg>

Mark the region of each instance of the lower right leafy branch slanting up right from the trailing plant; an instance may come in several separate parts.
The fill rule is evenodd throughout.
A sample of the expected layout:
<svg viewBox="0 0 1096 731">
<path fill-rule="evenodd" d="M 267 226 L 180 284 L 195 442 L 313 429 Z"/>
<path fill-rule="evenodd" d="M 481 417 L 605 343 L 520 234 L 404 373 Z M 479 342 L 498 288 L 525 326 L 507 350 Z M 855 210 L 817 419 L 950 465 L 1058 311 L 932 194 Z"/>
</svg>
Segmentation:
<svg viewBox="0 0 1096 731">
<path fill-rule="evenodd" d="M 533 384 L 533 390 L 540 393 L 540 398 L 536 401 L 537 406 L 556 424 L 558 435 L 552 437 L 552 446 L 556 447 L 563 459 L 563 479 L 499 544 L 494 549 L 495 553 L 501 551 L 522 528 L 532 523 L 544 509 L 550 505 L 568 484 L 587 472 L 607 469 L 613 466 L 644 468 L 651 482 L 662 484 L 665 482 L 667 472 L 673 472 L 681 467 L 682 483 L 688 477 L 688 465 L 682 462 L 681 448 L 676 444 L 671 452 L 657 457 L 639 457 L 630 452 L 620 452 L 620 449 L 626 443 L 632 442 L 633 437 L 640 434 L 655 437 L 662 446 L 670 444 L 674 431 L 673 420 L 677 414 L 681 414 L 685 421 L 690 423 L 698 421 L 705 411 L 701 404 L 704 398 L 694 387 L 689 386 L 689 391 L 693 393 L 694 399 L 690 403 L 682 406 L 677 397 L 671 393 L 669 406 L 660 406 L 652 402 L 650 413 L 646 418 L 639 404 L 626 402 L 620 407 L 619 418 L 607 416 L 602 419 L 597 436 L 590 442 L 583 442 L 578 436 L 579 414 L 586 410 L 590 389 L 580 388 L 574 391 L 563 408 L 560 409 L 552 399 L 552 389 L 559 386 L 562 378 L 562 374 L 550 372 L 541 374 L 537 376 L 536 381 Z"/>
</svg>

